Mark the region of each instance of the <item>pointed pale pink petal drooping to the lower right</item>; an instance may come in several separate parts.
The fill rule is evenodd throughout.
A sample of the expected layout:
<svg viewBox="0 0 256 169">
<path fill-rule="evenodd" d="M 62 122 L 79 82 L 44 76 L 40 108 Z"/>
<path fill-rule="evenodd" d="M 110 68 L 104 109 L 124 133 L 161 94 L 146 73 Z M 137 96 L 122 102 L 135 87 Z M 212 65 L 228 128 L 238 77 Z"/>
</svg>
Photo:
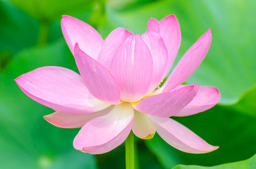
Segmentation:
<svg viewBox="0 0 256 169">
<path fill-rule="evenodd" d="M 175 149 L 192 154 L 204 154 L 219 148 L 206 143 L 197 134 L 173 119 L 152 115 L 150 117 L 156 125 L 156 132 Z"/>
</svg>

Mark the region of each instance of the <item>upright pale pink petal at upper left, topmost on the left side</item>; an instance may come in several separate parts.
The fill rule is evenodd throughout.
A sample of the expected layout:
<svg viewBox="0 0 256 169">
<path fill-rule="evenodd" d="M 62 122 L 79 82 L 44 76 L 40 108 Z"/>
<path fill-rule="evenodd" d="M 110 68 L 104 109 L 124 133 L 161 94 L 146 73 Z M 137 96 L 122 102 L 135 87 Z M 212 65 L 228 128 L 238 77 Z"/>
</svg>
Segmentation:
<svg viewBox="0 0 256 169">
<path fill-rule="evenodd" d="M 103 44 L 98 32 L 87 23 L 68 15 L 63 15 L 61 24 L 62 33 L 72 54 L 74 55 L 74 45 L 78 42 L 82 51 L 97 60 Z"/>
</svg>

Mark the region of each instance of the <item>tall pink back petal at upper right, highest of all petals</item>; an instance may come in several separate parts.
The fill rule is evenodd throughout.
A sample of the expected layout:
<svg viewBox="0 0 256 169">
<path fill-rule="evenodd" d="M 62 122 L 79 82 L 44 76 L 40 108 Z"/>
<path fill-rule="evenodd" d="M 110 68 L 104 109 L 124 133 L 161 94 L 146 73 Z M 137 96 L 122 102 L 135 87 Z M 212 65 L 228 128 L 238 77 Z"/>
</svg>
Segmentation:
<svg viewBox="0 0 256 169">
<path fill-rule="evenodd" d="M 168 50 L 168 61 L 163 78 L 169 73 L 170 68 L 178 54 L 181 42 L 180 24 L 175 15 L 168 15 L 159 21 L 161 25 L 161 35 Z"/>
</svg>

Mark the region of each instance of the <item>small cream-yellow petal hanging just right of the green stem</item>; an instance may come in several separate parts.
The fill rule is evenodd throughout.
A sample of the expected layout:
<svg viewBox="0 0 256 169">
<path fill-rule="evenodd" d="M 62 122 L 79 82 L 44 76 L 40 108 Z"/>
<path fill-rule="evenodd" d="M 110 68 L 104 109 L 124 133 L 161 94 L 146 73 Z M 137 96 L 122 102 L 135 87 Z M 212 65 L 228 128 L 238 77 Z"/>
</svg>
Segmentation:
<svg viewBox="0 0 256 169">
<path fill-rule="evenodd" d="M 148 115 L 139 111 L 134 111 L 134 124 L 132 132 L 141 139 L 152 139 L 156 133 L 156 127 Z"/>
</svg>

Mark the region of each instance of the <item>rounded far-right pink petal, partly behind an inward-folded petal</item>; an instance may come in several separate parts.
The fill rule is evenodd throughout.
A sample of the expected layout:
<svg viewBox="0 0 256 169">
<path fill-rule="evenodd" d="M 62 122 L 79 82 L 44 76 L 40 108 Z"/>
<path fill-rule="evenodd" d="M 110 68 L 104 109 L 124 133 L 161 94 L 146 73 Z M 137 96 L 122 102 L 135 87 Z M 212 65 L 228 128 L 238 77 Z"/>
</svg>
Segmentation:
<svg viewBox="0 0 256 169">
<path fill-rule="evenodd" d="M 215 106 L 220 99 L 221 94 L 216 87 L 199 86 L 194 99 L 175 116 L 187 116 L 206 111 Z"/>
</svg>

